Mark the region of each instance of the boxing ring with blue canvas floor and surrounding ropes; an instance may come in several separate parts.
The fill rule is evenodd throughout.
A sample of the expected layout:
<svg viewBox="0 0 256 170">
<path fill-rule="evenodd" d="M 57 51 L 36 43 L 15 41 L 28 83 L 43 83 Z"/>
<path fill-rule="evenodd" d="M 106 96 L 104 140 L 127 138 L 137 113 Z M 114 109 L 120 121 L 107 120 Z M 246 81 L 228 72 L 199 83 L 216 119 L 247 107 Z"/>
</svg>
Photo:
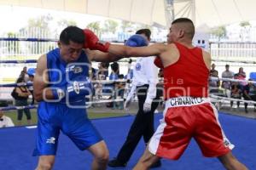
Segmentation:
<svg viewBox="0 0 256 170">
<path fill-rule="evenodd" d="M 43 41 L 43 40 L 42 40 Z M 226 61 L 226 60 L 224 60 Z M 2 60 L 0 64 L 26 64 L 36 63 L 36 59 L 27 60 Z M 232 61 L 230 61 L 232 62 Z M 252 64 L 255 64 L 253 62 Z M 234 81 L 230 79 L 221 79 L 224 81 Z M 95 83 L 106 83 L 111 81 L 96 81 Z M 112 81 L 114 82 L 114 81 Z M 117 81 L 119 82 L 119 81 Z M 253 82 L 255 83 L 255 82 Z M 31 86 L 32 84 L 26 84 Z M 0 88 L 15 87 L 20 84 L 0 84 Z M 212 99 L 217 99 L 220 102 L 227 100 L 237 99 L 225 99 L 216 95 L 211 96 Z M 109 99 L 90 101 L 90 104 L 102 104 L 106 102 L 119 102 L 123 99 Z M 241 100 L 244 101 L 244 100 Z M 255 104 L 253 101 L 247 101 L 247 103 Z M 30 109 L 37 108 L 37 105 L 27 106 Z M 24 107 L 23 107 L 24 108 Z M 19 107 L 9 106 L 2 108 L 3 111 L 17 110 Z M 8 114 L 6 114 L 8 116 Z M 154 126 L 159 125 L 161 113 L 155 114 Z M 105 139 L 110 154 L 110 159 L 116 156 L 120 146 L 123 144 L 126 138 L 126 134 L 133 122 L 134 116 L 127 114 L 126 116 L 119 116 L 114 118 L 101 118 L 92 120 L 98 131 Z M 256 135 L 253 129 L 256 129 L 255 119 L 250 119 L 243 116 L 230 115 L 227 112 L 219 112 L 219 121 L 224 128 L 224 132 L 230 139 L 232 144 L 236 147 L 233 150 L 234 155 L 243 162 L 249 169 L 256 169 Z M 118 128 L 117 128 L 118 127 Z M 34 169 L 38 163 L 38 157 L 32 156 L 32 150 L 35 147 L 36 126 L 23 126 L 23 127 L 7 127 L 0 128 L 0 169 L 9 170 L 29 170 Z M 137 145 L 137 149 L 131 156 L 131 160 L 128 161 L 127 166 L 123 168 L 108 167 L 108 169 L 132 169 L 142 156 L 145 150 L 143 140 Z M 58 151 L 55 159 L 55 170 L 79 170 L 90 169 L 90 163 L 92 156 L 87 151 L 80 151 L 67 136 L 61 133 L 59 139 Z M 183 156 L 178 161 L 170 161 L 162 159 L 162 166 L 155 168 L 161 170 L 216 170 L 223 169 L 218 159 L 205 158 L 201 155 L 201 151 L 195 140 L 191 140 L 189 148 L 184 152 Z"/>
</svg>

